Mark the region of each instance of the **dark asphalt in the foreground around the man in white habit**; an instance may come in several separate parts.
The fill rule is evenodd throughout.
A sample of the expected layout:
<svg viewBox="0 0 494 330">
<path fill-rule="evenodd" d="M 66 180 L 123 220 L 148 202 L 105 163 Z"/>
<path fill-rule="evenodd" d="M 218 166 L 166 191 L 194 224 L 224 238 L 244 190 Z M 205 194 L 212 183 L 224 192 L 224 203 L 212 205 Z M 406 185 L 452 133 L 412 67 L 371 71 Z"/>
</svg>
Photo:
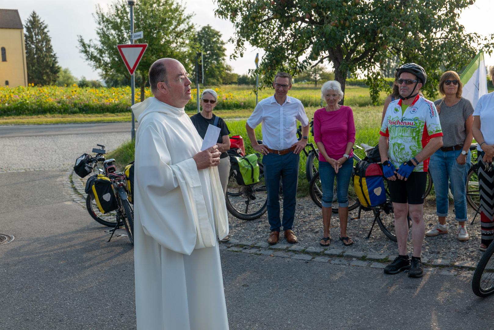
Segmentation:
<svg viewBox="0 0 494 330">
<path fill-rule="evenodd" d="M 0 174 L 5 330 L 135 329 L 133 250 L 71 201 L 59 171 Z M 222 251 L 231 330 L 492 329 L 470 278 Z M 486 313 L 487 312 L 487 313 Z M 204 329 L 207 329 L 205 326 Z"/>
</svg>

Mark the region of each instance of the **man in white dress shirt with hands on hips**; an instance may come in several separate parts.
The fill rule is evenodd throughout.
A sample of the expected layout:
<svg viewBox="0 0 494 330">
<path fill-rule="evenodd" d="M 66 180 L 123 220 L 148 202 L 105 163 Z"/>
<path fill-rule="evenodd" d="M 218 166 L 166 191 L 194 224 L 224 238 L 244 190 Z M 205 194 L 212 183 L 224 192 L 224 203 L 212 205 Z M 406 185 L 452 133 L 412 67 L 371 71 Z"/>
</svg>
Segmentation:
<svg viewBox="0 0 494 330">
<path fill-rule="evenodd" d="M 288 243 L 296 243 L 293 218 L 298 181 L 299 153 L 307 145 L 309 120 L 300 100 L 288 96 L 291 76 L 278 72 L 273 82 L 275 94 L 257 103 L 247 120 L 250 143 L 260 152 L 268 194 L 268 220 L 271 233 L 268 243 L 278 243 L 283 225 Z M 297 120 L 302 124 L 302 139 L 297 141 Z M 262 144 L 257 143 L 255 127 L 261 124 Z M 280 220 L 280 178 L 283 184 L 283 222 Z"/>
</svg>

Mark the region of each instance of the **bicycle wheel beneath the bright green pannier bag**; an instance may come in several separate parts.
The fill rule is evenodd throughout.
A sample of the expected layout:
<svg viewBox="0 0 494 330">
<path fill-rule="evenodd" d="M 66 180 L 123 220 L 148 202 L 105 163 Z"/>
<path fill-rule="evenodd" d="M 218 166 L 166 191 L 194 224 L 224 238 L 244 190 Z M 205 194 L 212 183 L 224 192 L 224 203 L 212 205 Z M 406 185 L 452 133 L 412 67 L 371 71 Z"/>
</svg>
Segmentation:
<svg viewBox="0 0 494 330">
<path fill-rule="evenodd" d="M 254 220 L 266 213 L 268 195 L 261 163 L 259 163 L 259 182 L 253 185 L 239 185 L 233 171 L 230 172 L 225 201 L 228 212 L 241 220 Z"/>
</svg>

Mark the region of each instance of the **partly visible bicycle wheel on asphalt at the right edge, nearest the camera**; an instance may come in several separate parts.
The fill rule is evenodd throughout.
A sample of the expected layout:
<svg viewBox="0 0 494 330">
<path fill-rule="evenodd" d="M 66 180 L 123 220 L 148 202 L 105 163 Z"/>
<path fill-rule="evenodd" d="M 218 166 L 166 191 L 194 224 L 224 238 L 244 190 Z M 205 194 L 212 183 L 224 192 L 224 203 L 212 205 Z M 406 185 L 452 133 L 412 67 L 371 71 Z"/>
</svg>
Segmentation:
<svg viewBox="0 0 494 330">
<path fill-rule="evenodd" d="M 480 258 L 472 277 L 472 290 L 479 297 L 487 297 L 494 293 L 494 244 L 490 244 Z"/>
</svg>

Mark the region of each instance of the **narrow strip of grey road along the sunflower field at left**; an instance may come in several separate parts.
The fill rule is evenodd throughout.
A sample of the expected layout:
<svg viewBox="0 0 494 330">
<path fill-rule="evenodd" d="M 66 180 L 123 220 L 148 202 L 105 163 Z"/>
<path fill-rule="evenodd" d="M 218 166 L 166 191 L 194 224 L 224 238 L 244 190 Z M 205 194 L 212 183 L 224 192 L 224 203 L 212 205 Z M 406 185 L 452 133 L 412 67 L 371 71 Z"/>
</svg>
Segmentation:
<svg viewBox="0 0 494 330">
<path fill-rule="evenodd" d="M 135 129 L 138 125 L 135 123 Z M 49 124 L 49 125 L 0 125 L 0 138 L 54 136 L 93 133 L 129 134 L 132 124 L 127 123 L 88 123 L 88 124 Z"/>
</svg>

